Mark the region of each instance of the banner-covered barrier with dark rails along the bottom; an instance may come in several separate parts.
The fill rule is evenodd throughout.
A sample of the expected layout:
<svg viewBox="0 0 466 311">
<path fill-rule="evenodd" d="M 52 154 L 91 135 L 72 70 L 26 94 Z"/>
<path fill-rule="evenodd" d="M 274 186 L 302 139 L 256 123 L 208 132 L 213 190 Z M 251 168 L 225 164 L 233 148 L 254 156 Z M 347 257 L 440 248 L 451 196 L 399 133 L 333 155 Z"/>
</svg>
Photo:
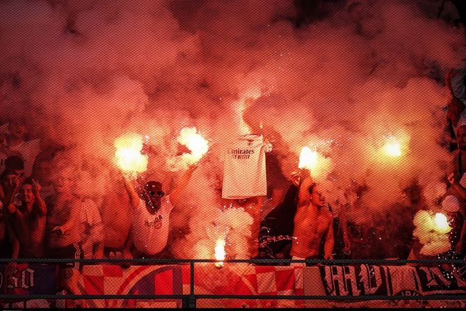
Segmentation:
<svg viewBox="0 0 466 311">
<path fill-rule="evenodd" d="M 465 260 L 10 261 L 3 308 L 466 307 Z M 72 294 L 69 262 L 83 264 Z"/>
</svg>

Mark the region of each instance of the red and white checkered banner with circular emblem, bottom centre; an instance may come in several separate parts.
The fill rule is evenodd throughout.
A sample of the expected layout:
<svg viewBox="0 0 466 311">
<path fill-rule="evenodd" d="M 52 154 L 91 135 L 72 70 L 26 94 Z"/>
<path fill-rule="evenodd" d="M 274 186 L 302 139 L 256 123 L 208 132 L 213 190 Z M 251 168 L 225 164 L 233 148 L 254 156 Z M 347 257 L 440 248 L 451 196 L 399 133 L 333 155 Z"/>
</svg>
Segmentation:
<svg viewBox="0 0 466 311">
<path fill-rule="evenodd" d="M 225 264 L 218 269 L 214 264 L 195 264 L 195 294 L 214 295 L 302 295 L 302 269 L 290 266 L 253 266 Z M 191 292 L 191 266 L 84 266 L 81 278 L 83 294 L 184 294 Z M 211 305 L 210 305 L 211 303 Z M 214 299 L 198 304 L 223 308 L 273 306 L 277 301 L 250 299 Z M 114 299 L 93 300 L 94 308 L 156 308 L 182 307 L 180 299 Z"/>
</svg>

